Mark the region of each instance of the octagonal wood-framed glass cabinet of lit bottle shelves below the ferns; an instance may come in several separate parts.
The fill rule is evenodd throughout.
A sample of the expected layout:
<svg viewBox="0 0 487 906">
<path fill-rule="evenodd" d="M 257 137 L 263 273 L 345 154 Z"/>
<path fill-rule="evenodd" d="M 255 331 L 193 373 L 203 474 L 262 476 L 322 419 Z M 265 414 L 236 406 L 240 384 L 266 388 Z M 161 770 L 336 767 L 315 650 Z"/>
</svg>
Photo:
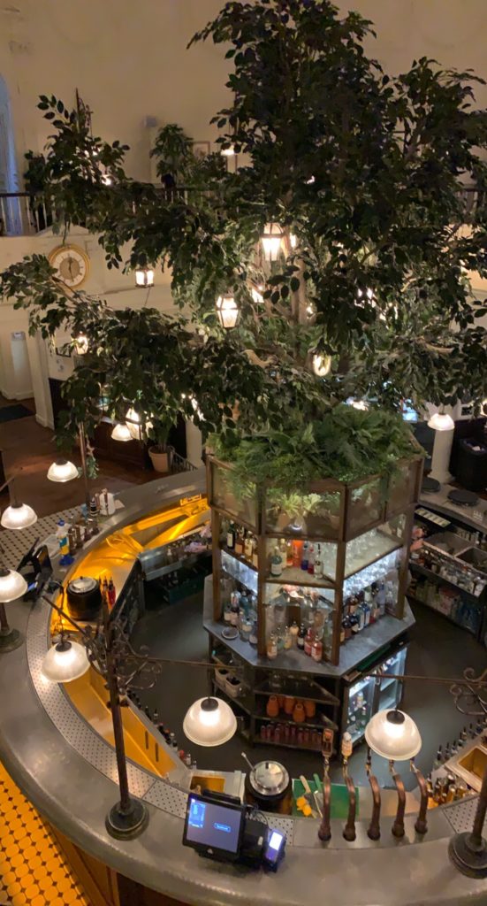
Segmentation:
<svg viewBox="0 0 487 906">
<path fill-rule="evenodd" d="M 234 467 L 209 457 L 213 617 L 261 656 L 282 652 L 339 665 L 340 648 L 402 619 L 407 554 L 421 457 L 381 476 L 317 481 L 304 491 L 246 486 Z"/>
</svg>

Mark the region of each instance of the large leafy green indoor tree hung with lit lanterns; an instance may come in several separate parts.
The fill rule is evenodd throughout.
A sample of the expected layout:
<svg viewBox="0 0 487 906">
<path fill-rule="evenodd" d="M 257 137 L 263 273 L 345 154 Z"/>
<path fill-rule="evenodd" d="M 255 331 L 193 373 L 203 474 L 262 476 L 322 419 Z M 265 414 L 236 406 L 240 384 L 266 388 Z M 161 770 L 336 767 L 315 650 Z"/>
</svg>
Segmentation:
<svg viewBox="0 0 487 906">
<path fill-rule="evenodd" d="M 109 268 L 167 269 L 175 302 L 172 314 L 115 310 L 67 289 L 42 255 L 5 271 L 2 291 L 33 331 L 88 340 L 61 434 L 81 420 L 91 430 L 100 397 L 114 419 L 132 407 L 167 426 L 181 413 L 227 450 L 246 444 L 250 469 L 281 451 L 291 484 L 313 469 L 367 474 L 404 452 L 404 400 L 487 397 L 487 310 L 468 280 L 487 275 L 480 80 L 425 58 L 388 75 L 365 53 L 371 35 L 329 0 L 226 3 L 191 42 L 222 45 L 232 70 L 232 100 L 212 120 L 220 148 L 200 159 L 167 125 L 159 186 L 129 178 L 127 147 L 93 136 L 82 104 L 41 97 L 53 135 L 36 177 L 57 229 L 97 235 Z M 282 239 L 268 263 L 271 226 Z M 240 319 L 224 331 L 215 302 L 227 295 Z"/>
</svg>

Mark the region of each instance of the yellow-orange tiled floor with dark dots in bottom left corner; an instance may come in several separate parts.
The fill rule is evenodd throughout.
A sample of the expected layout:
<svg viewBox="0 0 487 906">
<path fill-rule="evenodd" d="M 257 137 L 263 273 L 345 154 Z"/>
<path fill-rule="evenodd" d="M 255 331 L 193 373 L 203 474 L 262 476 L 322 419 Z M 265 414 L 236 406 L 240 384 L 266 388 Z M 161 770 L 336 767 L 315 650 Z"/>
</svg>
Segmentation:
<svg viewBox="0 0 487 906">
<path fill-rule="evenodd" d="M 0 765 L 0 904 L 90 906 L 48 824 Z"/>
</svg>

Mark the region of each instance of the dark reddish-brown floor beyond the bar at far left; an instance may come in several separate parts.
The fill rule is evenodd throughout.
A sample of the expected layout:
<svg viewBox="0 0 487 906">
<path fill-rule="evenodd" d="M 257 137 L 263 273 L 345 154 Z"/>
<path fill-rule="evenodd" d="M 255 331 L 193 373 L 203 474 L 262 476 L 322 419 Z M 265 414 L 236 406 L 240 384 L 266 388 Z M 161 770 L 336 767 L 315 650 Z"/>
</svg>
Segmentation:
<svg viewBox="0 0 487 906">
<path fill-rule="evenodd" d="M 21 400 L 22 404 L 34 411 L 33 400 Z M 0 408 L 15 405 L 17 400 L 5 400 L 0 395 Z M 58 455 L 53 431 L 43 428 L 35 417 L 15 419 L 0 423 L 0 449 L 3 451 L 5 477 L 11 477 L 19 469 L 15 480 L 17 497 L 23 503 L 33 506 L 38 516 L 49 516 L 58 510 L 79 506 L 84 501 L 81 479 L 55 484 L 48 481 L 47 470 Z M 74 449 L 72 461 L 81 466 L 78 450 Z M 148 469 L 126 467 L 110 459 L 99 460 L 99 477 L 91 482 L 93 491 L 108 487 L 112 492 L 121 491 L 130 485 L 142 485 L 151 481 L 155 473 Z M 8 504 L 8 493 L 0 495 L 0 509 Z"/>
</svg>

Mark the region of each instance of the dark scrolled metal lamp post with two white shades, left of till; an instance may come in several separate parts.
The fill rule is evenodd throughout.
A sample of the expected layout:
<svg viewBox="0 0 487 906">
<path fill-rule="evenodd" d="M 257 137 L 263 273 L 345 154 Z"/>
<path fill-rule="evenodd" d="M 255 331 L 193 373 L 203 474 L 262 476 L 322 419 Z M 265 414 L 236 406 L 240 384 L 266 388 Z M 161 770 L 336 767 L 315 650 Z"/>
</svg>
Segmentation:
<svg viewBox="0 0 487 906">
<path fill-rule="evenodd" d="M 127 757 L 121 707 L 126 702 L 129 689 L 151 689 L 164 664 L 185 664 L 215 670 L 217 665 L 203 661 L 169 660 L 151 658 L 141 651 L 134 651 L 123 625 L 110 615 L 108 603 L 102 597 L 102 621 L 95 630 L 86 629 L 72 620 L 69 614 L 43 595 L 62 620 L 67 620 L 81 635 L 85 661 L 80 657 L 81 646 L 68 641 L 62 632 L 61 641 L 48 651 L 43 663 L 43 673 L 53 682 L 69 682 L 91 667 L 106 680 L 110 697 L 110 713 L 115 742 L 115 757 L 119 777 L 119 802 L 110 808 L 105 826 L 108 833 L 119 840 L 132 840 L 148 825 L 148 810 L 129 792 Z M 74 648 L 76 646 L 76 648 Z M 74 656 L 73 656 L 74 650 Z M 52 653 L 54 651 L 54 654 Z M 189 708 L 184 721 L 186 735 L 200 746 L 220 746 L 234 736 L 236 718 L 232 709 L 221 699 L 207 696 Z"/>
</svg>

